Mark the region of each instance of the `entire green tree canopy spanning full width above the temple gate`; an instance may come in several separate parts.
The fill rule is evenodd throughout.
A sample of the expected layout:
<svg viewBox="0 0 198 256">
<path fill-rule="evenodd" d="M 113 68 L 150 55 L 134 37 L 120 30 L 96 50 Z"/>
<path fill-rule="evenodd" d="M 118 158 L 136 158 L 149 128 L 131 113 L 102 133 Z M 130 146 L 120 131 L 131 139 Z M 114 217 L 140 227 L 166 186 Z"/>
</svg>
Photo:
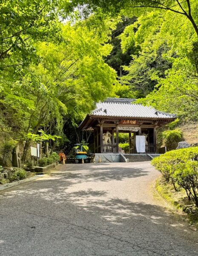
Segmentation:
<svg viewBox="0 0 198 256">
<path fill-rule="evenodd" d="M 64 143 L 66 122 L 71 131 L 108 96 L 197 120 L 197 9 L 189 0 L 1 1 L 1 137 L 20 142 L 25 160 L 32 141 Z"/>
</svg>

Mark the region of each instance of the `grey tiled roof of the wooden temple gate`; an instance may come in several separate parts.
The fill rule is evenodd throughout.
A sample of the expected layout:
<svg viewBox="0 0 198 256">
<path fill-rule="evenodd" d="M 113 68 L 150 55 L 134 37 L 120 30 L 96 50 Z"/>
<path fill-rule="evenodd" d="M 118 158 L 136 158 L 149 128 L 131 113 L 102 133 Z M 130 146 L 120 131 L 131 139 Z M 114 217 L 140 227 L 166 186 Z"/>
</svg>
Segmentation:
<svg viewBox="0 0 198 256">
<path fill-rule="evenodd" d="M 135 99 L 107 98 L 104 102 L 96 104 L 91 116 L 118 116 L 135 118 L 173 119 L 175 114 L 157 111 L 155 108 L 133 104 Z"/>
</svg>

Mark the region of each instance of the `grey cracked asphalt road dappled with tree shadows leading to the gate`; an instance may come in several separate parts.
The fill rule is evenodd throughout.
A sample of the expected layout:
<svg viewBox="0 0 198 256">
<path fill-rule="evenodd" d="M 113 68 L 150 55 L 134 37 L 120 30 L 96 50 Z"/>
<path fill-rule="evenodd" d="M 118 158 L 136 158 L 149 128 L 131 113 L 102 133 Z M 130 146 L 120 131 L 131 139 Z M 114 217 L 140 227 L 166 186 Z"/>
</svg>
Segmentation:
<svg viewBox="0 0 198 256">
<path fill-rule="evenodd" d="M 149 162 L 64 165 L 0 193 L 0 256 L 197 256 Z"/>
</svg>

